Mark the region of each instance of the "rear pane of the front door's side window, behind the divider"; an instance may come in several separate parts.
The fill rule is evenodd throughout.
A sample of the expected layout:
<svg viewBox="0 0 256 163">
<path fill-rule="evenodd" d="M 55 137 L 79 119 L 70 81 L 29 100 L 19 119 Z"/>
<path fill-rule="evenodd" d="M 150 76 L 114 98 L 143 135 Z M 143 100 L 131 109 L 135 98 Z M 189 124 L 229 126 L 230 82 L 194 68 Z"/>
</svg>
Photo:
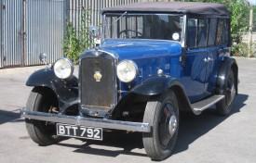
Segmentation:
<svg viewBox="0 0 256 163">
<path fill-rule="evenodd" d="M 198 19 L 197 25 L 197 47 L 207 46 L 208 19 Z"/>
</svg>

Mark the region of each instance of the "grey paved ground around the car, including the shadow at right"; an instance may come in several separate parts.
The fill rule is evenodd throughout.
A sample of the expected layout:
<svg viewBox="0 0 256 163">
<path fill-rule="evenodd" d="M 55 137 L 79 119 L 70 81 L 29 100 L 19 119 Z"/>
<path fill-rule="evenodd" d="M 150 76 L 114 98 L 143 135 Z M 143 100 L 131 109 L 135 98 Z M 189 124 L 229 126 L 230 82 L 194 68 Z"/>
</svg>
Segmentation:
<svg viewBox="0 0 256 163">
<path fill-rule="evenodd" d="M 182 115 L 173 155 L 162 162 L 256 162 L 256 59 L 236 60 L 239 94 L 230 116 L 219 117 L 214 109 L 197 117 Z M 138 133 L 110 133 L 102 142 L 72 138 L 50 146 L 34 144 L 19 108 L 32 90 L 26 79 L 41 68 L 0 69 L 0 162 L 151 162 Z"/>
</svg>

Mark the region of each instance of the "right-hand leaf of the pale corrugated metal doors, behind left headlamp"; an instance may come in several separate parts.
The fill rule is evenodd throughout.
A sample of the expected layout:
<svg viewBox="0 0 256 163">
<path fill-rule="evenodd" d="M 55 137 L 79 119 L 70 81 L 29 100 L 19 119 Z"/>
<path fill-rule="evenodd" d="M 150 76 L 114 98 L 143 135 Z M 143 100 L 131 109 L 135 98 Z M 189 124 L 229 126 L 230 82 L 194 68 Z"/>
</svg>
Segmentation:
<svg viewBox="0 0 256 163">
<path fill-rule="evenodd" d="M 64 0 L 26 0 L 26 65 L 38 65 L 39 54 L 52 63 L 63 56 Z"/>
</svg>

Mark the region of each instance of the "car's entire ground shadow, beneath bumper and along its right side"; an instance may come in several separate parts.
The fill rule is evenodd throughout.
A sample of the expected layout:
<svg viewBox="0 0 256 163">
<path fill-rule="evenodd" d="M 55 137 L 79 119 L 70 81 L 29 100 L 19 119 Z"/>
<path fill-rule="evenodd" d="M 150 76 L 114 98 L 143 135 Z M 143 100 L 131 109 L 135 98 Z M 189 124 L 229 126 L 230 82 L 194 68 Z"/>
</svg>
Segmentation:
<svg viewBox="0 0 256 163">
<path fill-rule="evenodd" d="M 204 111 L 201 115 L 182 114 L 180 121 L 180 131 L 178 140 L 172 154 L 178 154 L 188 149 L 196 139 L 200 138 L 210 130 L 218 126 L 228 117 L 239 113 L 240 109 L 245 106 L 244 102 L 248 99 L 247 94 L 238 94 L 234 101 L 234 106 L 229 116 L 222 117 L 216 114 L 214 108 Z M 106 133 L 103 141 L 85 141 L 85 144 L 64 144 L 57 145 L 76 148 L 74 152 L 86 153 L 90 155 L 117 157 L 118 155 L 131 155 L 146 157 L 145 152 L 136 153 L 133 149 L 143 148 L 141 133 Z M 97 144 L 97 147 L 94 147 Z M 100 146 L 100 147 L 99 147 Z M 102 146 L 102 147 L 101 147 Z M 108 150 L 105 146 L 117 147 L 118 149 Z"/>
</svg>

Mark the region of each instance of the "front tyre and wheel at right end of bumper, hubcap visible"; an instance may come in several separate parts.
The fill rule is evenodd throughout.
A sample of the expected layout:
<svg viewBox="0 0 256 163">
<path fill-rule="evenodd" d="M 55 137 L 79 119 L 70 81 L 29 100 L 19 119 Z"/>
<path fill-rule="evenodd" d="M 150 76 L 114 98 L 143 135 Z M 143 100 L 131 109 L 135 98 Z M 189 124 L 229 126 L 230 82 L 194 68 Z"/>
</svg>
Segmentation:
<svg viewBox="0 0 256 163">
<path fill-rule="evenodd" d="M 179 107 L 173 91 L 168 90 L 147 103 L 143 122 L 152 126 L 151 132 L 142 133 L 147 155 L 153 160 L 169 157 L 179 130 Z"/>
</svg>

